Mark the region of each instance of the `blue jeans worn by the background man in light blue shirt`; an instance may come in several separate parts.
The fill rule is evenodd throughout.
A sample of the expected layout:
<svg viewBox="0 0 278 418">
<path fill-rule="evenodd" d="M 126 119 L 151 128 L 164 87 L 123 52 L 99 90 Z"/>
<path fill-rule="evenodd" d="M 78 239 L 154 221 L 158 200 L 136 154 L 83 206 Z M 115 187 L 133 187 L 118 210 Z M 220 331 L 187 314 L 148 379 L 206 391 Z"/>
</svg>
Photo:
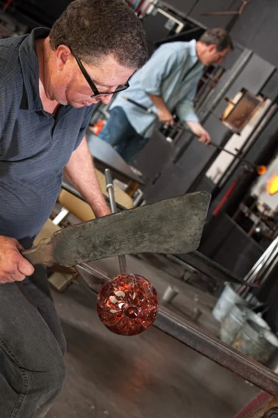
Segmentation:
<svg viewBox="0 0 278 418">
<path fill-rule="evenodd" d="M 113 107 L 104 129 L 99 133 L 99 138 L 115 146 L 117 153 L 130 164 L 139 151 L 147 144 L 149 138 L 139 135 L 129 123 L 122 107 Z"/>
</svg>

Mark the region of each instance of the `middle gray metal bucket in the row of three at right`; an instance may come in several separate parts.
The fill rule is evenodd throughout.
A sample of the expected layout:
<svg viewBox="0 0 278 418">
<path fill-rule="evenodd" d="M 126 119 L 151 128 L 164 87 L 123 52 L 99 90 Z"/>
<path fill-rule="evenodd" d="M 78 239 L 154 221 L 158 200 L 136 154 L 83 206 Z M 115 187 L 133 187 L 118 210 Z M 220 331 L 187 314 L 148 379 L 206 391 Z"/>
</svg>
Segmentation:
<svg viewBox="0 0 278 418">
<path fill-rule="evenodd" d="M 247 311 L 249 309 L 243 304 L 236 304 L 231 308 L 220 328 L 220 339 L 224 343 L 231 344 L 235 341 L 236 336 L 247 321 Z"/>
</svg>

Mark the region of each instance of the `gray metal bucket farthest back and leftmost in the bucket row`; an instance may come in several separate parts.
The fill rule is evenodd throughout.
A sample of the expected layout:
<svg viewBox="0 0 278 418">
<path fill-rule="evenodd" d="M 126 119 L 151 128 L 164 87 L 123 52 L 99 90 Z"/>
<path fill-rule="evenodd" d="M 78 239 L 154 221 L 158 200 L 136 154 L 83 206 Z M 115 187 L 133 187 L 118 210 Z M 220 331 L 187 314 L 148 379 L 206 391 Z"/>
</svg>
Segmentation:
<svg viewBox="0 0 278 418">
<path fill-rule="evenodd" d="M 234 291 L 234 288 L 231 286 L 231 284 L 226 284 L 224 291 L 222 291 L 218 301 L 215 304 L 215 307 L 213 308 L 212 314 L 214 318 L 219 322 L 223 322 L 235 304 L 246 305 L 247 303 L 243 297 Z"/>
</svg>

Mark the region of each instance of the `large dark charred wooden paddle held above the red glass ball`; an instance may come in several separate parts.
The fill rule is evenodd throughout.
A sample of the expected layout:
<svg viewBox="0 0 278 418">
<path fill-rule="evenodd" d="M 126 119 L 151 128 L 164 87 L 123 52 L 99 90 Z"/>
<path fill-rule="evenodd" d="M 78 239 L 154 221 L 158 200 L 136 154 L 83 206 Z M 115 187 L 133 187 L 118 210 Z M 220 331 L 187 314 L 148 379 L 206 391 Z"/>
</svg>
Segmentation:
<svg viewBox="0 0 278 418">
<path fill-rule="evenodd" d="M 57 231 L 23 251 L 32 264 L 76 265 L 124 254 L 177 254 L 199 246 L 211 196 L 197 192 Z"/>
</svg>

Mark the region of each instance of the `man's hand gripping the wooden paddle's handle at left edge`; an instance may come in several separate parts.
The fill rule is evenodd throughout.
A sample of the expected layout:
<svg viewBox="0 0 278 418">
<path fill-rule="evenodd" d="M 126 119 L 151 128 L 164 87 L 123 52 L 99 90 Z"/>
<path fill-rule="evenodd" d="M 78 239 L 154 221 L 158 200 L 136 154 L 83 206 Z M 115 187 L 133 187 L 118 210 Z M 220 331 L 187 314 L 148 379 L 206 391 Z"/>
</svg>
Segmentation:
<svg viewBox="0 0 278 418">
<path fill-rule="evenodd" d="M 19 252 L 23 249 L 15 238 L 0 235 L 0 284 L 22 281 L 33 274 L 33 265 Z"/>
</svg>

